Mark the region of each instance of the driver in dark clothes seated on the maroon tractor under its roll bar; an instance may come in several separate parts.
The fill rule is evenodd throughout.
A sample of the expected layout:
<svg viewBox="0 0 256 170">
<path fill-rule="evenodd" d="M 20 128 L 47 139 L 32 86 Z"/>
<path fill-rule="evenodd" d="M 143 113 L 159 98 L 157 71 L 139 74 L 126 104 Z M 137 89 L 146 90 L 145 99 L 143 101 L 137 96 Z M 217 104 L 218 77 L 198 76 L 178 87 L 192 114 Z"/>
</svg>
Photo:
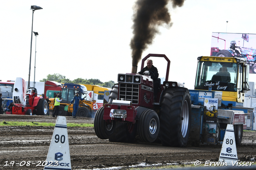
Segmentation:
<svg viewBox="0 0 256 170">
<path fill-rule="evenodd" d="M 147 59 L 147 66 L 142 68 L 138 74 L 143 75 L 145 71 L 149 70 L 150 71 L 150 76 L 154 80 L 154 102 L 156 101 L 157 98 L 157 93 L 158 93 L 158 88 L 159 88 L 159 82 L 158 82 L 158 70 L 155 66 L 153 66 L 153 61 L 150 59 Z"/>
</svg>

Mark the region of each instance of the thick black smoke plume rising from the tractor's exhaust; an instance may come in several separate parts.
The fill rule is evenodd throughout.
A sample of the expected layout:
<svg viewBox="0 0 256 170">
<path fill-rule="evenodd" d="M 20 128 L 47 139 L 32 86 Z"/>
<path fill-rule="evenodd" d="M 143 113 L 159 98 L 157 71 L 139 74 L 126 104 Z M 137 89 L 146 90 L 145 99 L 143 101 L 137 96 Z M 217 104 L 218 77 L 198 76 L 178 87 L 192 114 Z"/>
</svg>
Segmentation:
<svg viewBox="0 0 256 170">
<path fill-rule="evenodd" d="M 159 33 L 157 26 L 166 24 L 172 26 L 171 16 L 166 5 L 172 2 L 172 7 L 181 7 L 184 0 L 137 0 L 133 14 L 133 34 L 130 47 L 132 49 L 132 65 L 137 66 L 142 52 L 152 44 Z"/>
</svg>

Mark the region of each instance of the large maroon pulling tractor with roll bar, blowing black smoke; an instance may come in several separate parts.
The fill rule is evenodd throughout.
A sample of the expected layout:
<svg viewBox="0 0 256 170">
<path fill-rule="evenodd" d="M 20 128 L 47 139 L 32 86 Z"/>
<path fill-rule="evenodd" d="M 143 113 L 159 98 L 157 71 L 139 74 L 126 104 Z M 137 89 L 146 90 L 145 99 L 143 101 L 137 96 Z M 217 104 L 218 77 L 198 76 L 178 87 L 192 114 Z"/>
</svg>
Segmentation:
<svg viewBox="0 0 256 170">
<path fill-rule="evenodd" d="M 142 142 L 160 139 L 164 146 L 185 147 L 191 122 L 189 91 L 177 82 L 168 81 L 170 60 L 166 55 L 147 55 L 142 59 L 141 68 L 149 57 L 164 57 L 168 62 L 163 84 L 158 78 L 160 88 L 156 101 L 151 78 L 154 75 L 136 74 L 134 67 L 130 74 L 118 74 L 118 84 L 112 87 L 108 104 L 96 112 L 95 133 L 110 142 L 130 143 L 138 134 Z"/>
</svg>

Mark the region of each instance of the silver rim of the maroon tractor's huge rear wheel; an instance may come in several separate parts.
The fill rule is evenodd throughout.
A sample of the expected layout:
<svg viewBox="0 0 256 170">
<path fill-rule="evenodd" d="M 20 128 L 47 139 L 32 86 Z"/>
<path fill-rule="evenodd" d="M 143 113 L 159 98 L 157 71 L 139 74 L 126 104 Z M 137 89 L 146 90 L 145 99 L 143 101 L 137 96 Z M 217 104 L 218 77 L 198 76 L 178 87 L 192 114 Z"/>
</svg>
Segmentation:
<svg viewBox="0 0 256 170">
<path fill-rule="evenodd" d="M 184 101 L 184 105 L 182 108 L 182 118 L 181 118 L 181 133 L 182 137 L 186 137 L 186 134 L 188 133 L 188 121 L 189 121 L 189 106 L 188 101 Z"/>
</svg>

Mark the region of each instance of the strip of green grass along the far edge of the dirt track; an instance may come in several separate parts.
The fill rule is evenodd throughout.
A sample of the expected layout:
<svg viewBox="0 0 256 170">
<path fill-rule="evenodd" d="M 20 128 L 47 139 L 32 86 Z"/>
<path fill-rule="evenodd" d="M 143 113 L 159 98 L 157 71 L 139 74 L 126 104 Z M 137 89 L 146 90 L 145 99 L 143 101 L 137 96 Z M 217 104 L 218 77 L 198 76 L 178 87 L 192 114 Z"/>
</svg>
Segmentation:
<svg viewBox="0 0 256 170">
<path fill-rule="evenodd" d="M 1 121 L 0 126 L 55 126 L 55 123 L 45 122 L 22 122 L 22 121 Z M 94 124 L 89 123 L 67 123 L 68 127 L 94 127 Z"/>
</svg>

